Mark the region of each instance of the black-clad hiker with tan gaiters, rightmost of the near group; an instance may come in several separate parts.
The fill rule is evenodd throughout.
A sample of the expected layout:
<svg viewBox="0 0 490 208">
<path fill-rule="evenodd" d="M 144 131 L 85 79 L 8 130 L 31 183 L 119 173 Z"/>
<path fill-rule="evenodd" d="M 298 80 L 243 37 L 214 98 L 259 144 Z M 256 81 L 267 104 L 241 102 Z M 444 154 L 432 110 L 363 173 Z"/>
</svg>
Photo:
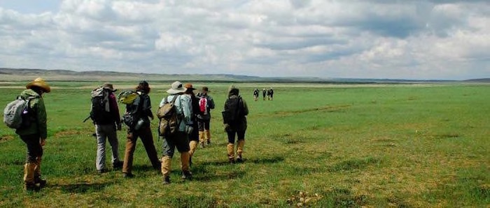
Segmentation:
<svg viewBox="0 0 490 208">
<path fill-rule="evenodd" d="M 228 89 L 228 99 L 222 112 L 223 124 L 228 134 L 228 144 L 226 151 L 230 163 L 241 163 L 244 161 L 243 152 L 245 144 L 246 116 L 248 107 L 243 98 L 239 95 L 239 89 L 231 85 Z M 237 158 L 235 160 L 235 135 L 237 135 Z"/>
</svg>

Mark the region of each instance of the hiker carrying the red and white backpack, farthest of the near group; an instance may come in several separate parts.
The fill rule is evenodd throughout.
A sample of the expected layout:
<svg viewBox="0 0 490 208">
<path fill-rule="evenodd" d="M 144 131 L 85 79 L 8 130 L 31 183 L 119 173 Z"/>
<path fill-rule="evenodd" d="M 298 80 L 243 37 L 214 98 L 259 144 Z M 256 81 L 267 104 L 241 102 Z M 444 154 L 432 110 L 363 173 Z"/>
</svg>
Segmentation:
<svg viewBox="0 0 490 208">
<path fill-rule="evenodd" d="M 200 114 L 197 115 L 197 126 L 199 128 L 199 141 L 200 146 L 204 147 L 204 142 L 206 144 L 211 144 L 211 109 L 214 109 L 213 97 L 208 95 L 208 87 L 202 87 L 201 93 L 199 94 L 199 110 Z"/>
</svg>

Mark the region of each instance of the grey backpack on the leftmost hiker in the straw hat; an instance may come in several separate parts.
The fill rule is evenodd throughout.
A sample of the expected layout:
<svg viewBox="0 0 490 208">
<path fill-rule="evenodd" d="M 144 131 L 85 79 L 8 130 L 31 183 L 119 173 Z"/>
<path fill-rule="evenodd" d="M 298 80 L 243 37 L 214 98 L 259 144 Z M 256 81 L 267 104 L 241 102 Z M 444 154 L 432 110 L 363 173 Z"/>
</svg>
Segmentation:
<svg viewBox="0 0 490 208">
<path fill-rule="evenodd" d="M 29 103 L 34 98 L 38 96 L 29 96 L 26 100 L 18 96 L 15 101 L 8 103 L 3 110 L 3 123 L 15 129 L 29 126 Z"/>
</svg>

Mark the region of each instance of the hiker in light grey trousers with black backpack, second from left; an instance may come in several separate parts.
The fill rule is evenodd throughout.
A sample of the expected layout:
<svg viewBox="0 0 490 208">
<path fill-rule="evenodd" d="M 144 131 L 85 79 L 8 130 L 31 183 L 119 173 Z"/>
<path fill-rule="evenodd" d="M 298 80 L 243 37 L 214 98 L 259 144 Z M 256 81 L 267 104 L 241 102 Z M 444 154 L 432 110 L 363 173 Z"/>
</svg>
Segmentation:
<svg viewBox="0 0 490 208">
<path fill-rule="evenodd" d="M 92 108 L 90 118 L 94 122 L 95 136 L 97 138 L 97 157 L 95 168 L 99 174 L 106 172 L 106 138 L 111 144 L 112 167 L 118 169 L 123 167 L 119 159 L 119 142 L 117 130 L 121 130 L 119 107 L 116 101 L 113 84 L 104 83 L 101 87 L 92 91 Z"/>
</svg>

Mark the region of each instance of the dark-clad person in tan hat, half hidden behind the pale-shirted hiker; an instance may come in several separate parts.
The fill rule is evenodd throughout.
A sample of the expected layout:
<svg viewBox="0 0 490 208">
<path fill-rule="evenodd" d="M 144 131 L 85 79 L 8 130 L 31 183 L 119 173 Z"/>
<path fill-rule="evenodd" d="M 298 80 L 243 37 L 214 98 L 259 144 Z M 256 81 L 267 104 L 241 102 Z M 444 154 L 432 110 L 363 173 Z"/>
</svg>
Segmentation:
<svg viewBox="0 0 490 208">
<path fill-rule="evenodd" d="M 184 94 L 190 96 L 190 101 L 192 103 L 192 108 L 193 108 L 193 114 L 192 114 L 192 121 L 193 121 L 193 132 L 190 133 L 189 135 L 189 165 L 193 165 L 193 155 L 197 149 L 197 144 L 199 143 L 199 129 L 197 126 L 197 116 L 201 114 L 201 111 L 199 109 L 199 99 L 194 94 L 195 88 L 193 87 L 193 84 L 186 83 L 184 84 L 184 88 L 186 88 L 186 91 Z"/>
</svg>

